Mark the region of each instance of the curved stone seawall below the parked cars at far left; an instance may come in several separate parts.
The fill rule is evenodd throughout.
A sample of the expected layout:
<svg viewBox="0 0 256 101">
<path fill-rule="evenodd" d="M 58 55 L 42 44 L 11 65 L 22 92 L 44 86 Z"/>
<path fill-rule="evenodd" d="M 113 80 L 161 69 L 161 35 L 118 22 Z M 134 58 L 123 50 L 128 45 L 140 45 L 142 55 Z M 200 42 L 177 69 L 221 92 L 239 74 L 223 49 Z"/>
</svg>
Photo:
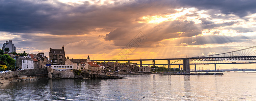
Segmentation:
<svg viewBox="0 0 256 101">
<path fill-rule="evenodd" d="M 2 73 L 0 74 L 0 86 L 9 82 L 36 79 L 48 79 L 47 68 L 37 68 Z"/>
</svg>

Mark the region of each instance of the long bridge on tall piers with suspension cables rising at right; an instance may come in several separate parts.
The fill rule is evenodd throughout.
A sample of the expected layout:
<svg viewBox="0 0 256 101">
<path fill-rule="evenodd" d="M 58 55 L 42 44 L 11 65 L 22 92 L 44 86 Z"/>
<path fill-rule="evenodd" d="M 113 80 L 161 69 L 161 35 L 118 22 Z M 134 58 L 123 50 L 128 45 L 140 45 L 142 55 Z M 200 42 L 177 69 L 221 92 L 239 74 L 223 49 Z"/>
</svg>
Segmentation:
<svg viewBox="0 0 256 101">
<path fill-rule="evenodd" d="M 167 60 L 166 64 L 155 64 L 155 61 L 159 60 Z M 171 62 L 171 60 L 176 60 Z M 190 72 L 190 65 L 209 65 L 214 64 L 214 68 L 216 71 L 216 64 L 255 64 L 256 62 L 237 62 L 237 61 L 247 61 L 247 60 L 256 60 L 256 46 L 249 46 L 243 49 L 238 50 L 227 50 L 227 52 L 223 52 L 221 54 L 207 55 L 207 56 L 198 56 L 198 57 L 189 57 L 189 58 L 164 58 L 164 59 L 123 59 L 123 60 L 92 60 L 95 62 L 106 62 L 106 61 L 127 61 L 128 64 L 130 61 L 139 61 L 139 66 L 143 65 L 152 65 L 153 67 L 156 65 L 167 66 L 171 68 L 171 65 L 183 65 L 183 70 L 185 72 Z M 152 64 L 143 64 L 143 61 L 152 61 Z M 183 61 L 183 63 L 178 63 L 179 61 Z M 206 62 L 207 61 L 207 62 Z M 212 61 L 212 62 L 209 62 Z M 214 62 L 215 61 L 215 62 Z M 201 62 L 201 63 L 190 63 L 190 62 Z M 203 62 L 203 63 L 202 63 Z"/>
</svg>

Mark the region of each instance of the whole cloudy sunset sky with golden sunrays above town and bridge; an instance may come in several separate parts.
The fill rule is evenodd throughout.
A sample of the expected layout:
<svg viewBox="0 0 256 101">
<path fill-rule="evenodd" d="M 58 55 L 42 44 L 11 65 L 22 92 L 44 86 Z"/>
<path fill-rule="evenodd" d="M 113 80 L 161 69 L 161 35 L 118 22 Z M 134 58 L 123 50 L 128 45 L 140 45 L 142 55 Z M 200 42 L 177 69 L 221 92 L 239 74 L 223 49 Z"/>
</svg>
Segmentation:
<svg viewBox="0 0 256 101">
<path fill-rule="evenodd" d="M 0 42 L 12 40 L 18 53 L 47 56 L 50 47 L 64 45 L 66 57 L 74 59 L 212 55 L 243 48 L 256 38 L 255 4 L 255 0 L 0 0 Z"/>
</svg>

